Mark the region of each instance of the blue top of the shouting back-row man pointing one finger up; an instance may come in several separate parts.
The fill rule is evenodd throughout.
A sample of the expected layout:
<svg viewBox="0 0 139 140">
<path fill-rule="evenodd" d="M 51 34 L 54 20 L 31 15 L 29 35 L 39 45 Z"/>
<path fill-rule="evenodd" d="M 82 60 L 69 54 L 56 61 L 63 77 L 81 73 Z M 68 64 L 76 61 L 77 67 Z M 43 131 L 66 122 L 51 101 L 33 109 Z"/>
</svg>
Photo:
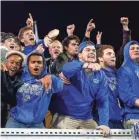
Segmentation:
<svg viewBox="0 0 139 140">
<path fill-rule="evenodd" d="M 39 42 L 35 43 L 34 45 L 24 46 L 24 50 L 22 51 L 22 53 L 28 55 L 33 52 L 40 44 L 43 44 L 44 50 L 48 49 L 48 47 L 46 47 L 44 44 L 44 40 L 39 40 Z"/>
</svg>

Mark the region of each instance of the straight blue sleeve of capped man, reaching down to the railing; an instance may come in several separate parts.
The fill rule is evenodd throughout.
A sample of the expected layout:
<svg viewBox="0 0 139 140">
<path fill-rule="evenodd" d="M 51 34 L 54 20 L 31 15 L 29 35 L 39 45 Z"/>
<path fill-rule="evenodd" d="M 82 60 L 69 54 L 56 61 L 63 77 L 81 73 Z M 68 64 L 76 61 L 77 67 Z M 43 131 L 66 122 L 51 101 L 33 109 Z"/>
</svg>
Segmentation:
<svg viewBox="0 0 139 140">
<path fill-rule="evenodd" d="M 109 99 L 108 99 L 108 83 L 105 74 L 102 74 L 99 90 L 96 95 L 96 106 L 99 114 L 99 125 L 108 126 Z"/>
</svg>

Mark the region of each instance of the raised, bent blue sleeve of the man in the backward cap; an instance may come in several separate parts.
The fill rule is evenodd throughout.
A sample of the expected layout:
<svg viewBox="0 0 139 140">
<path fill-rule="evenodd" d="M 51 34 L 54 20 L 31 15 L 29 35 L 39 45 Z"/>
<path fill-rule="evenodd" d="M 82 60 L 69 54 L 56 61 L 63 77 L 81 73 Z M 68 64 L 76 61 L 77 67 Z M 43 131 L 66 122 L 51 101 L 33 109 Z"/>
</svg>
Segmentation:
<svg viewBox="0 0 139 140">
<path fill-rule="evenodd" d="M 65 77 L 70 78 L 72 77 L 75 73 L 80 71 L 82 69 L 84 62 L 81 61 L 74 61 L 74 62 L 69 62 L 63 65 L 62 72 Z"/>
</svg>

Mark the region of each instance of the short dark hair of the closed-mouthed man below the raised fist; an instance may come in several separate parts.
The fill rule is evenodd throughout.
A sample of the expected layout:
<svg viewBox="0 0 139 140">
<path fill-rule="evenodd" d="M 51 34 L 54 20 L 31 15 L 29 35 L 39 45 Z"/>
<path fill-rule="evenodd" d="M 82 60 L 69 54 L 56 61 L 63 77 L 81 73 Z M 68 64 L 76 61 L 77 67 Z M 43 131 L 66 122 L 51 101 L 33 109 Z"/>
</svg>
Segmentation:
<svg viewBox="0 0 139 140">
<path fill-rule="evenodd" d="M 71 40 L 76 40 L 78 43 L 80 43 L 80 39 L 78 36 L 71 35 L 71 36 L 67 36 L 66 38 L 64 38 L 64 40 L 62 41 L 63 47 L 65 48 L 65 46 L 68 46 Z"/>
</svg>

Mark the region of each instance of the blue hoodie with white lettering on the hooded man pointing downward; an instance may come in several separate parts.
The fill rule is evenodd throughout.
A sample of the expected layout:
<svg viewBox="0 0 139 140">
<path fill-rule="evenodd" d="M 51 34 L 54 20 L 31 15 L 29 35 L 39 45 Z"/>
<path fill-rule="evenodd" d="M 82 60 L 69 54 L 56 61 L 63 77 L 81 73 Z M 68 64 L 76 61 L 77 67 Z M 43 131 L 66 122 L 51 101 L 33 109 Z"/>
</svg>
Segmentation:
<svg viewBox="0 0 139 140">
<path fill-rule="evenodd" d="M 38 124 L 45 118 L 52 93 L 61 91 L 63 89 L 63 82 L 56 76 L 52 75 L 52 88 L 47 92 L 45 87 L 42 87 L 42 83 L 36 81 L 47 74 L 44 58 L 43 71 L 38 77 L 30 74 L 28 70 L 28 58 L 21 77 L 24 84 L 16 93 L 17 105 L 10 110 L 10 114 L 11 117 L 18 122 Z"/>
</svg>

